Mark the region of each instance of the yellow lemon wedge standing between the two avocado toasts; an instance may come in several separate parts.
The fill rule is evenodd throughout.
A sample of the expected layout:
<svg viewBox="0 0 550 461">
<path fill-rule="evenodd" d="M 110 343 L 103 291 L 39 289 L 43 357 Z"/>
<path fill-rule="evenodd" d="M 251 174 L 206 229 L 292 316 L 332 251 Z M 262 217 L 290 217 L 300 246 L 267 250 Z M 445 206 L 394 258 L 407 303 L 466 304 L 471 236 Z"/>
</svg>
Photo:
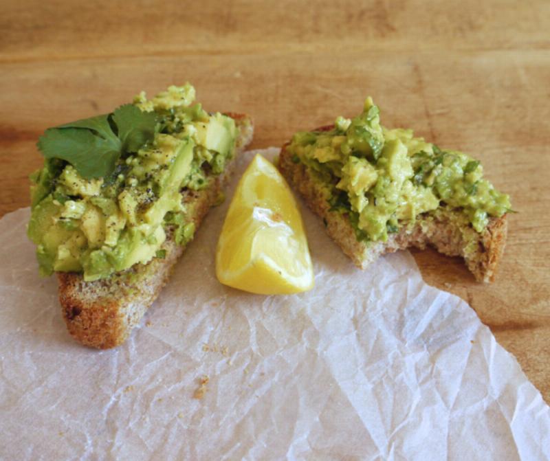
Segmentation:
<svg viewBox="0 0 550 461">
<path fill-rule="evenodd" d="M 314 271 L 294 196 L 281 173 L 256 155 L 237 185 L 216 251 L 216 276 L 261 295 L 307 291 Z"/>
</svg>

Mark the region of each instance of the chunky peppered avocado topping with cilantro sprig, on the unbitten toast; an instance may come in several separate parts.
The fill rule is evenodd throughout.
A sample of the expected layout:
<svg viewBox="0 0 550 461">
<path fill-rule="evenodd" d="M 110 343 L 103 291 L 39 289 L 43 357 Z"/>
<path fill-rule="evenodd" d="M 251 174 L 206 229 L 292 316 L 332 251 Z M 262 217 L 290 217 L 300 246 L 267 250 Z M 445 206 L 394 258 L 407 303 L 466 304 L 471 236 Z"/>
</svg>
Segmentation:
<svg viewBox="0 0 550 461">
<path fill-rule="evenodd" d="M 181 190 L 208 187 L 234 154 L 234 120 L 194 104 L 188 83 L 113 113 L 48 129 L 38 146 L 28 236 L 40 271 L 98 280 L 165 255 L 195 232 Z"/>
</svg>

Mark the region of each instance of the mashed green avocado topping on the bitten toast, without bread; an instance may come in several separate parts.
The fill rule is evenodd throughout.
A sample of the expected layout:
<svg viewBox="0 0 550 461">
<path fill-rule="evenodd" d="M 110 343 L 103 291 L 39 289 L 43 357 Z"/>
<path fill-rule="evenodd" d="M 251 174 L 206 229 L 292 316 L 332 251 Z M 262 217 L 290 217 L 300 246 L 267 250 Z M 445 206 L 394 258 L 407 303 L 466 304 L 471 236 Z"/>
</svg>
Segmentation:
<svg viewBox="0 0 550 461">
<path fill-rule="evenodd" d="M 338 117 L 329 131 L 296 133 L 287 149 L 322 185 L 331 210 L 349 214 L 359 240 L 385 241 L 441 207 L 461 210 L 483 232 L 488 216 L 510 209 L 509 196 L 483 178 L 479 161 L 412 130 L 384 128 L 371 98 L 360 115 Z"/>
</svg>

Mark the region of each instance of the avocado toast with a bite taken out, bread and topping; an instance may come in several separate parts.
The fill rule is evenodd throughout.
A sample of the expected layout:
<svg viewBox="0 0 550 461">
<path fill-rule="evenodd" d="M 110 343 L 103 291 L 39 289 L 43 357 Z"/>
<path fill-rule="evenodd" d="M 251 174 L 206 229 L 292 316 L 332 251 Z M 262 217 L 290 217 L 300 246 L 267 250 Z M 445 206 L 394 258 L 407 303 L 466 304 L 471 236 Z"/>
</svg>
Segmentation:
<svg viewBox="0 0 550 461">
<path fill-rule="evenodd" d="M 509 197 L 471 157 L 410 130 L 384 128 L 371 98 L 353 120 L 338 117 L 334 125 L 296 133 L 278 167 L 358 267 L 431 245 L 462 256 L 476 280 L 494 280 Z"/>
</svg>

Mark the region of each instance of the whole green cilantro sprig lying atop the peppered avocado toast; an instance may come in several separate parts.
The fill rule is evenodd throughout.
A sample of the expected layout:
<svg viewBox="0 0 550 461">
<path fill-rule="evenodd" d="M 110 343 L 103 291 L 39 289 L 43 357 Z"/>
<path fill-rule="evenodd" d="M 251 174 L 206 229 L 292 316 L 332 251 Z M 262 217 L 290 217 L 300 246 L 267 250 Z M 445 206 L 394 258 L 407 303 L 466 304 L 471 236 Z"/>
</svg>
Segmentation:
<svg viewBox="0 0 550 461">
<path fill-rule="evenodd" d="M 46 159 L 72 164 L 85 179 L 109 177 L 123 153 L 151 142 L 157 115 L 124 104 L 113 113 L 48 128 L 37 144 Z"/>
</svg>

